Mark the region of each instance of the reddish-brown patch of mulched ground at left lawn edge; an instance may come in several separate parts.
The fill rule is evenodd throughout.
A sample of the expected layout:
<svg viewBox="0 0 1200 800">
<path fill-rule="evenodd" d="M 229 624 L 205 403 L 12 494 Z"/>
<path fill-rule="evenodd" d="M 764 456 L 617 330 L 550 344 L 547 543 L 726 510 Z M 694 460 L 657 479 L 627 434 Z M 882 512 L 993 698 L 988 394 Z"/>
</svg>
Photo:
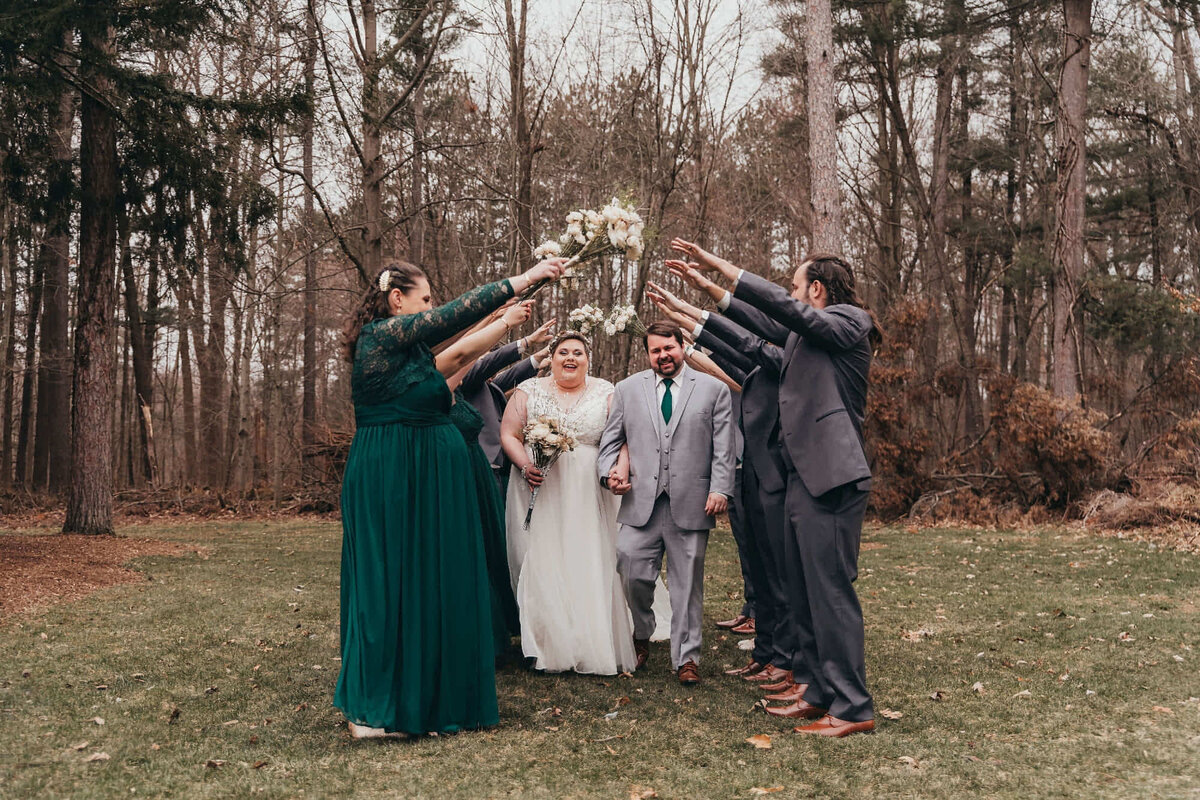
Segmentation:
<svg viewBox="0 0 1200 800">
<path fill-rule="evenodd" d="M 24 534 L 0 536 L 0 621 L 119 583 L 145 581 L 124 566 L 142 555 L 182 555 L 194 547 L 155 539 Z"/>
</svg>

